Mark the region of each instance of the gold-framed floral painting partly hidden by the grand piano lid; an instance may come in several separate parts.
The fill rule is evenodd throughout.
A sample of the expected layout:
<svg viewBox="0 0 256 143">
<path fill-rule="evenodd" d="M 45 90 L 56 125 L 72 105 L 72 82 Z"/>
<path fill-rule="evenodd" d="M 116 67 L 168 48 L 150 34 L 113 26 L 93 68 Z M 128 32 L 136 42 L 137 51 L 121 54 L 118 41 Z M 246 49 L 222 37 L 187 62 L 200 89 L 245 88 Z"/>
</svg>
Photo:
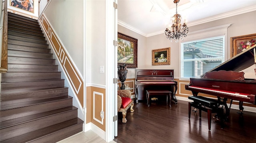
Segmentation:
<svg viewBox="0 0 256 143">
<path fill-rule="evenodd" d="M 237 37 L 230 37 L 231 41 L 231 58 L 242 53 L 246 47 L 251 47 L 256 44 L 256 33 L 249 35 L 242 35 Z"/>
</svg>

